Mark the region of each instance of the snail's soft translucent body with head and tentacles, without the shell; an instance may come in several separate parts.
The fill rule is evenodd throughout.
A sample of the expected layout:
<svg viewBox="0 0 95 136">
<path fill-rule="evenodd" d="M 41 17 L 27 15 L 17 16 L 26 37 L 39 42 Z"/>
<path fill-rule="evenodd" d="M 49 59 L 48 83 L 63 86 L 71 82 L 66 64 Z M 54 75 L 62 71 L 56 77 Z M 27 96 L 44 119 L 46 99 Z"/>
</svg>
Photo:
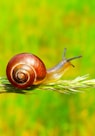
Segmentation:
<svg viewBox="0 0 95 136">
<path fill-rule="evenodd" d="M 70 68 L 70 66 L 74 67 L 71 61 L 82 57 L 80 55 L 67 59 L 66 51 L 67 49 L 64 48 L 62 60 L 56 66 L 47 70 L 46 80 L 44 80 L 45 83 L 54 82 L 60 79 L 63 76 L 63 74 Z"/>
</svg>

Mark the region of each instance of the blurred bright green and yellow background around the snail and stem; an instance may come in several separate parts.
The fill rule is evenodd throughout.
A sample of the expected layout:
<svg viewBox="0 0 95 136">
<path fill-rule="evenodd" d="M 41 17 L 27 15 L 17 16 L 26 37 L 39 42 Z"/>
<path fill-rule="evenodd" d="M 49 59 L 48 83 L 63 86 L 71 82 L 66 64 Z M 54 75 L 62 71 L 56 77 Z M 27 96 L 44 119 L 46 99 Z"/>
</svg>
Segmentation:
<svg viewBox="0 0 95 136">
<path fill-rule="evenodd" d="M 0 76 L 21 52 L 39 56 L 47 68 L 83 55 L 63 79 L 95 78 L 94 0 L 0 1 Z M 0 136 L 94 136 L 95 90 L 77 94 L 35 91 L 0 94 Z"/>
</svg>

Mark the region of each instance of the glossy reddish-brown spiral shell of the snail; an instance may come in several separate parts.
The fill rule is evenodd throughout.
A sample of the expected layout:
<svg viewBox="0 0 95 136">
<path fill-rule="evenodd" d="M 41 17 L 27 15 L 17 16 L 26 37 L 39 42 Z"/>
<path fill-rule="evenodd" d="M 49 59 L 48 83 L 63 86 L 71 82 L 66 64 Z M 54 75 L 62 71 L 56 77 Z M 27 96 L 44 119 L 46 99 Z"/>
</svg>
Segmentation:
<svg viewBox="0 0 95 136">
<path fill-rule="evenodd" d="M 46 68 L 40 58 L 22 53 L 14 56 L 8 63 L 6 75 L 13 86 L 26 89 L 40 84 L 46 76 Z"/>
</svg>

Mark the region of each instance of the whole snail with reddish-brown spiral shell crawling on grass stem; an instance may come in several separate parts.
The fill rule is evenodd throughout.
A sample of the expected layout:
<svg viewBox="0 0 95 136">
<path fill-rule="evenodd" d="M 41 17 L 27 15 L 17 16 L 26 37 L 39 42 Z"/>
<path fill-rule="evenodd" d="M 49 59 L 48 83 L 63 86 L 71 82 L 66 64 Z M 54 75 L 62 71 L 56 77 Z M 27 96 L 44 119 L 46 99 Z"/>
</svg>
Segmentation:
<svg viewBox="0 0 95 136">
<path fill-rule="evenodd" d="M 51 69 L 46 69 L 43 61 L 34 54 L 17 54 L 7 64 L 7 78 L 14 87 L 19 89 L 54 82 L 61 78 L 70 66 L 73 66 L 71 60 L 81 57 L 66 59 L 65 54 L 66 48 L 61 62 Z"/>
</svg>

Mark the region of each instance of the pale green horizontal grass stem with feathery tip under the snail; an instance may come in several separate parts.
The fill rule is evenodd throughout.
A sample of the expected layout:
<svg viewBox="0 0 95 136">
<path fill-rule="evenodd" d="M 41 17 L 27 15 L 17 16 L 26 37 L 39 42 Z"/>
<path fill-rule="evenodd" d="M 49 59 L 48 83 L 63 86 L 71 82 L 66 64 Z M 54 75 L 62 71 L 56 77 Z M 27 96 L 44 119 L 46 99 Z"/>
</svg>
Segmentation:
<svg viewBox="0 0 95 136">
<path fill-rule="evenodd" d="M 35 90 L 49 90 L 59 93 L 76 93 L 85 89 L 95 88 L 95 79 L 88 79 L 89 75 L 79 76 L 73 80 L 58 80 L 48 84 L 32 86 L 26 90 L 20 90 L 12 86 L 7 78 L 0 77 L 0 93 L 20 93 L 25 94 Z"/>
</svg>

